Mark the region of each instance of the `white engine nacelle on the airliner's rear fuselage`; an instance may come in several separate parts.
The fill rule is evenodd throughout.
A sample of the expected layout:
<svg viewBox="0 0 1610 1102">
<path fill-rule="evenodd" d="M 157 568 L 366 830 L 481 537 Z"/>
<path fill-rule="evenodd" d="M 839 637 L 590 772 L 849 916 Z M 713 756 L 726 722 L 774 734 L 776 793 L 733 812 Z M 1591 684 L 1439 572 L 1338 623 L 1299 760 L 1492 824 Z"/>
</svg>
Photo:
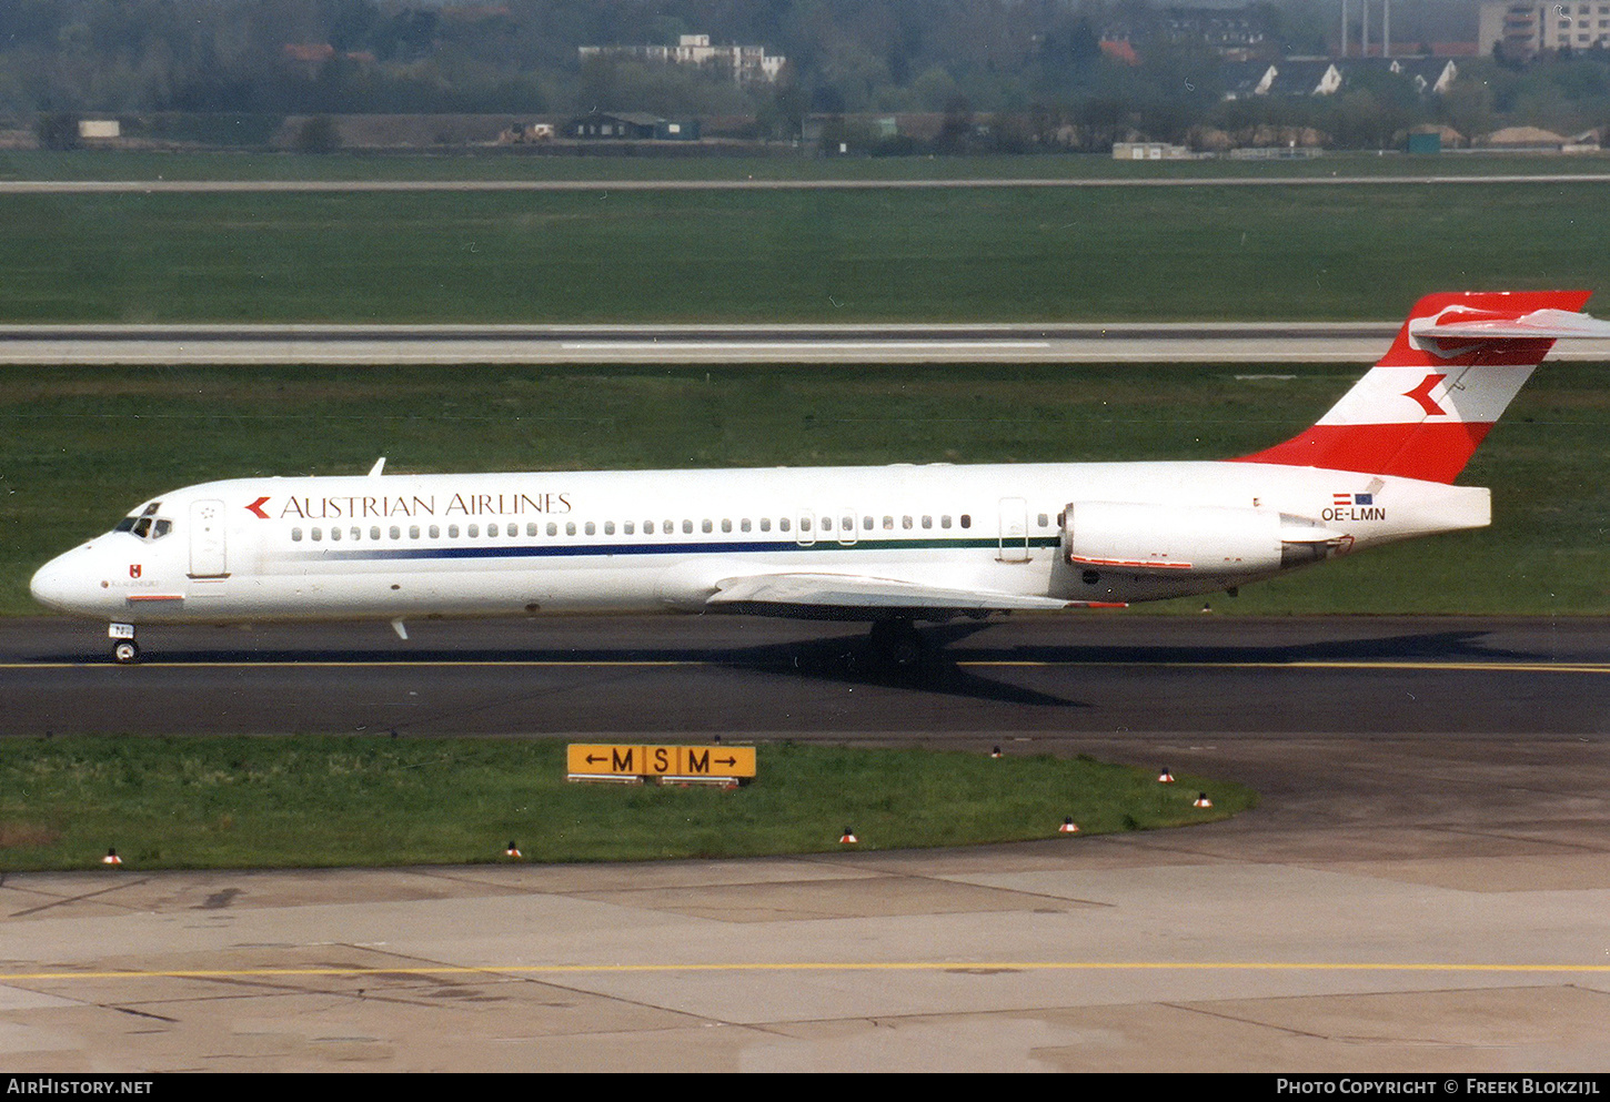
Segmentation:
<svg viewBox="0 0 1610 1102">
<path fill-rule="evenodd" d="M 1072 502 L 1063 513 L 1069 566 L 1146 574 L 1267 574 L 1346 550 L 1306 516 L 1225 505 Z"/>
</svg>

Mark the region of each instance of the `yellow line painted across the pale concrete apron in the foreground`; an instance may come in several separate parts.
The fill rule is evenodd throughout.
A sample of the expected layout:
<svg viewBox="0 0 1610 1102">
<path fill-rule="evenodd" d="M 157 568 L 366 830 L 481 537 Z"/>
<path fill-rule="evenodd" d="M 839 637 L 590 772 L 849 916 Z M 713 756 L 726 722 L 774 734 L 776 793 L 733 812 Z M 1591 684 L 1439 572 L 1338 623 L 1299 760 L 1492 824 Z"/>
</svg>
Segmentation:
<svg viewBox="0 0 1610 1102">
<path fill-rule="evenodd" d="M 56 980 L 275 980 L 296 977 L 386 978 L 441 975 L 652 975 L 670 972 L 1433 972 L 1600 975 L 1610 964 L 1491 964 L 1380 960 L 749 960 L 731 964 L 488 964 L 317 968 L 129 968 L 121 972 L 11 972 L 0 983 Z"/>
</svg>

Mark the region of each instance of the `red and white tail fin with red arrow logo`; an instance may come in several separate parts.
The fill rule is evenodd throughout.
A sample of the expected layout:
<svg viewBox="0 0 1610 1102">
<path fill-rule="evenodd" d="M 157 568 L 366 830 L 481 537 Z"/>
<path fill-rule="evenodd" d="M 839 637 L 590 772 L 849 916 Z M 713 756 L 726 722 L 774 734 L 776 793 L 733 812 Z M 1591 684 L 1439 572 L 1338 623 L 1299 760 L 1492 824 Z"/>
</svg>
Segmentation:
<svg viewBox="0 0 1610 1102">
<path fill-rule="evenodd" d="M 1610 336 L 1610 325 L 1578 312 L 1589 294 L 1428 294 L 1325 417 L 1241 460 L 1452 483 L 1555 338 Z"/>
</svg>

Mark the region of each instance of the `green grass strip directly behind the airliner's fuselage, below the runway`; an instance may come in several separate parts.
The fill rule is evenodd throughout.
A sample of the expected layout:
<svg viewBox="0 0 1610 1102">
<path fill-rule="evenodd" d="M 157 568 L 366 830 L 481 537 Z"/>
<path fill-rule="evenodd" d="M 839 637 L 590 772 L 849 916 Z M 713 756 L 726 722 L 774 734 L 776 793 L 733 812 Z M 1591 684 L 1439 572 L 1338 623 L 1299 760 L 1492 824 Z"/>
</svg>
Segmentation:
<svg viewBox="0 0 1610 1102">
<path fill-rule="evenodd" d="M 0 367 L 0 613 L 138 502 L 248 475 L 1224 458 L 1311 425 L 1364 368 Z M 1488 529 L 1249 586 L 1220 611 L 1610 613 L 1610 367 L 1546 365 L 1462 483 Z M 1077 492 L 1069 487 L 1069 495 Z M 1201 602 L 1146 608 L 1195 611 Z"/>
</svg>

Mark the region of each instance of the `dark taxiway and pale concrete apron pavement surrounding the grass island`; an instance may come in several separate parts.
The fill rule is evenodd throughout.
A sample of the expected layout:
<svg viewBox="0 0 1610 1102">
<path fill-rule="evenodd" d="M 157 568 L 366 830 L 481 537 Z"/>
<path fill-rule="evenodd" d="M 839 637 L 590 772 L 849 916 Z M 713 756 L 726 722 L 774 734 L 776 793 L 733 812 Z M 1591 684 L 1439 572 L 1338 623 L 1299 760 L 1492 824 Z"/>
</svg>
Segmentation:
<svg viewBox="0 0 1610 1102">
<path fill-rule="evenodd" d="M 1610 624 L 0 623 L 5 734 L 708 734 L 1088 753 L 1216 827 L 623 867 L 0 880 L 13 1070 L 1596 1071 Z M 322 719 L 322 726 L 319 721 Z"/>
</svg>

